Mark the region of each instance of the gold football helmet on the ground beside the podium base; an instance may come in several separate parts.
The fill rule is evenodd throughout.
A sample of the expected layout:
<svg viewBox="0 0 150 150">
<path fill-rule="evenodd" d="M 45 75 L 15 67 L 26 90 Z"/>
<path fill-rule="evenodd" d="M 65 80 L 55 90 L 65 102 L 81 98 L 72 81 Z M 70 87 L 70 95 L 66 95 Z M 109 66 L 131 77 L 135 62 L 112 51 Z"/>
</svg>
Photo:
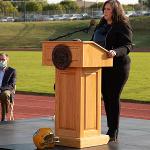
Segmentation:
<svg viewBox="0 0 150 150">
<path fill-rule="evenodd" d="M 33 142 L 37 149 L 46 149 L 54 147 L 59 138 L 54 137 L 51 128 L 40 128 L 34 133 Z"/>
</svg>

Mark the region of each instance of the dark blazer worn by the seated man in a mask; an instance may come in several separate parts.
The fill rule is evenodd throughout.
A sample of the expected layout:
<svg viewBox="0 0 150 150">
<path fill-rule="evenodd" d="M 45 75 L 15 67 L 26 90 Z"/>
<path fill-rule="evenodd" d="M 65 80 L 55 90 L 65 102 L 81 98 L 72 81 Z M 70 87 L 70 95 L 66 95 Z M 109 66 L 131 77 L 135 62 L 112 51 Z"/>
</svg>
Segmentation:
<svg viewBox="0 0 150 150">
<path fill-rule="evenodd" d="M 16 85 L 16 70 L 7 67 L 4 73 L 3 81 L 2 81 L 2 86 L 1 86 L 1 91 L 5 90 L 10 90 L 13 91 L 15 89 Z"/>
</svg>

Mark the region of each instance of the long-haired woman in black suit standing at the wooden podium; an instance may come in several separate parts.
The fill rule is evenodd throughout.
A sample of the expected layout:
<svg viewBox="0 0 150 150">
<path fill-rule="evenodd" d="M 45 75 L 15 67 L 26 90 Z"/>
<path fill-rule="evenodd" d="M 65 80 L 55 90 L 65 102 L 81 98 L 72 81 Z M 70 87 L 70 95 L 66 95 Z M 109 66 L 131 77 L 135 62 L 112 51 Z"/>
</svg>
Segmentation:
<svg viewBox="0 0 150 150">
<path fill-rule="evenodd" d="M 117 0 L 107 0 L 103 14 L 96 26 L 92 40 L 106 48 L 113 58 L 113 67 L 102 69 L 102 95 L 107 115 L 110 141 L 116 141 L 119 129 L 120 95 L 128 79 L 132 49 L 132 29 L 122 5 Z"/>
</svg>

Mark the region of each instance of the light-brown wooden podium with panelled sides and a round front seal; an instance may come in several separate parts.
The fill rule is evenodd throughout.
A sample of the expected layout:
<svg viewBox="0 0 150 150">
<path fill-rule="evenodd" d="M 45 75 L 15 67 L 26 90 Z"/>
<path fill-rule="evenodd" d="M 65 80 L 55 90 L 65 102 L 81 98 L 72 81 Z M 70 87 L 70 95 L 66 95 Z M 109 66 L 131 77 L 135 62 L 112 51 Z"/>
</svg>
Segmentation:
<svg viewBox="0 0 150 150">
<path fill-rule="evenodd" d="M 71 52 L 69 66 L 56 68 L 55 134 L 60 138 L 58 145 L 84 148 L 107 144 L 109 137 L 101 134 L 101 68 L 112 66 L 113 59 L 92 41 L 45 41 L 42 46 L 43 65 L 55 64 L 56 47 L 60 50 L 66 46 Z"/>
</svg>

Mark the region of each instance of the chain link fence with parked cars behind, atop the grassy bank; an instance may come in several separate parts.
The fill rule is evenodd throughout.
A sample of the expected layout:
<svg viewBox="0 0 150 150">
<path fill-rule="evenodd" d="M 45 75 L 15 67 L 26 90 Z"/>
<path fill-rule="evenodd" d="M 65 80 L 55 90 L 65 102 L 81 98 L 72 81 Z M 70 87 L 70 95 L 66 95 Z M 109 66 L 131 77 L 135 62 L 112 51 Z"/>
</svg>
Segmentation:
<svg viewBox="0 0 150 150">
<path fill-rule="evenodd" d="M 49 10 L 42 12 L 0 12 L 1 22 L 28 22 L 28 21 L 55 21 L 55 20 L 81 20 L 81 19 L 98 19 L 102 17 L 103 13 L 100 9 L 81 9 L 79 11 L 73 10 Z M 149 11 L 129 11 L 126 12 L 128 17 L 150 16 Z"/>
</svg>

